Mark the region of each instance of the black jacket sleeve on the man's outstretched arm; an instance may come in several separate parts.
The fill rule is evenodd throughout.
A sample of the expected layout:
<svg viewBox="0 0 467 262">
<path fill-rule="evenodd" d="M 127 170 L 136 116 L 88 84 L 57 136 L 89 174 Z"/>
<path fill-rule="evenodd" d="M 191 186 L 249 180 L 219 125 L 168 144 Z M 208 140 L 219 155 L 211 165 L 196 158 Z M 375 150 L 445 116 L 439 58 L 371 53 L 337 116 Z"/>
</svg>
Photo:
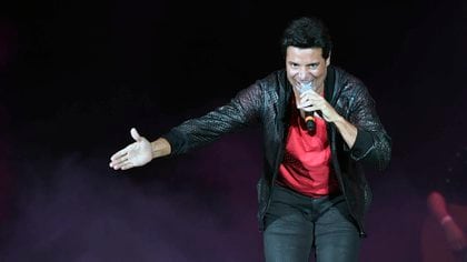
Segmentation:
<svg viewBox="0 0 467 262">
<path fill-rule="evenodd" d="M 171 145 L 171 155 L 182 154 L 218 140 L 257 122 L 261 110 L 259 83 L 240 90 L 227 104 L 201 115 L 183 121 L 161 137 Z"/>
</svg>

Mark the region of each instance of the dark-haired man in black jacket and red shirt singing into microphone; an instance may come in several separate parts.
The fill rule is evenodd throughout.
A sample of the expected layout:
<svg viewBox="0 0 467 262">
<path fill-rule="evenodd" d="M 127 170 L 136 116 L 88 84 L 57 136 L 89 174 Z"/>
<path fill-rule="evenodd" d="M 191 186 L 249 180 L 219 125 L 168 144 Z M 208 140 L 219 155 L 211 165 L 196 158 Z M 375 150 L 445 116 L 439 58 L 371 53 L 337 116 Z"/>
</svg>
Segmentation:
<svg viewBox="0 0 467 262">
<path fill-rule="evenodd" d="M 152 142 L 131 129 L 136 142 L 115 153 L 110 167 L 128 170 L 186 153 L 258 123 L 265 150 L 258 222 L 266 261 L 305 262 L 312 250 L 319 262 L 358 261 L 371 200 L 362 165 L 385 169 L 390 138 L 364 83 L 330 66 L 331 39 L 319 19 L 291 21 L 281 44 L 285 69 Z"/>
</svg>

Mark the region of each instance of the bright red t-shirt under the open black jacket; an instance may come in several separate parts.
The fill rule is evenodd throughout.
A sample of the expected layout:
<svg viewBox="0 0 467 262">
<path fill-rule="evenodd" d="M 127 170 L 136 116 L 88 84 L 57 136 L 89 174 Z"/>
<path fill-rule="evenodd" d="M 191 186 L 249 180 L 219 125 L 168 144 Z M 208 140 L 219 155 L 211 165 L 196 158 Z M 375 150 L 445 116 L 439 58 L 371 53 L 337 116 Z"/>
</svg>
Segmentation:
<svg viewBox="0 0 467 262">
<path fill-rule="evenodd" d="M 326 121 L 315 115 L 316 131 L 309 133 L 305 120 L 292 107 L 278 183 L 309 196 L 331 194 L 339 187 L 330 165 Z"/>
</svg>

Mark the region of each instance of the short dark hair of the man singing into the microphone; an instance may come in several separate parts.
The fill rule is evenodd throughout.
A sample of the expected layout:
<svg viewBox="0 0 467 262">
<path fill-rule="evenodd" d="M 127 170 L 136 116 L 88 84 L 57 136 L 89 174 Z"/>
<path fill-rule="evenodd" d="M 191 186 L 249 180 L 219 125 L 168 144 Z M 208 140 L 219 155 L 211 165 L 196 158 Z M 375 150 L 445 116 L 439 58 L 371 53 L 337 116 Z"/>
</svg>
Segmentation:
<svg viewBox="0 0 467 262">
<path fill-rule="evenodd" d="M 332 48 L 328 28 L 318 18 L 301 17 L 292 20 L 284 31 L 281 51 L 284 58 L 288 47 L 321 48 L 327 59 Z"/>
</svg>

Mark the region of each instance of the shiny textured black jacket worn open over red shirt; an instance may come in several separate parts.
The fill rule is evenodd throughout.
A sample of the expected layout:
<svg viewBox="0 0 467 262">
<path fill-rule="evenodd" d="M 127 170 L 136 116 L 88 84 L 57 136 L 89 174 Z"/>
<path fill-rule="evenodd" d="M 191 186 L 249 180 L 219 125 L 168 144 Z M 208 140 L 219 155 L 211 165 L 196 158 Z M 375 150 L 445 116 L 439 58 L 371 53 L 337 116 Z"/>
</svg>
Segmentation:
<svg viewBox="0 0 467 262">
<path fill-rule="evenodd" d="M 222 134 L 259 123 L 265 151 L 264 173 L 257 184 L 260 231 L 264 230 L 264 215 L 284 157 L 291 92 L 286 71 L 275 71 L 239 91 L 229 103 L 200 118 L 187 120 L 162 135 L 171 144 L 171 155 L 177 155 L 213 142 Z M 365 236 L 364 219 L 371 202 L 371 191 L 364 174 L 364 165 L 384 170 L 390 161 L 391 140 L 379 120 L 374 99 L 365 84 L 354 75 L 329 66 L 325 98 L 358 129 L 351 149 L 332 123 L 328 124 L 328 139 L 331 164 L 340 190 L 360 235 Z"/>
</svg>

